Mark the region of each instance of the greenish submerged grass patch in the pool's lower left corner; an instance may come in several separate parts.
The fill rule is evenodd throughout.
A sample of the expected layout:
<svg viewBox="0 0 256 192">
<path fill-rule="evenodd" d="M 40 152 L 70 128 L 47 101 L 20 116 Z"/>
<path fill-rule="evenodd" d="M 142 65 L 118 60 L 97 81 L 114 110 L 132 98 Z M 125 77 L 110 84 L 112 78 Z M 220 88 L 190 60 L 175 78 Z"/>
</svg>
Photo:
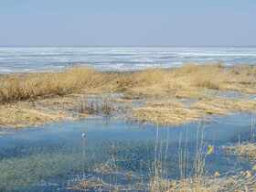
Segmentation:
<svg viewBox="0 0 256 192">
<path fill-rule="evenodd" d="M 27 191 L 27 187 L 44 182 L 43 178 L 67 176 L 72 171 L 80 171 L 84 165 L 78 161 L 79 158 L 80 154 L 44 153 L 1 159 L 0 191 Z M 70 162 L 76 163 L 70 167 Z"/>
</svg>

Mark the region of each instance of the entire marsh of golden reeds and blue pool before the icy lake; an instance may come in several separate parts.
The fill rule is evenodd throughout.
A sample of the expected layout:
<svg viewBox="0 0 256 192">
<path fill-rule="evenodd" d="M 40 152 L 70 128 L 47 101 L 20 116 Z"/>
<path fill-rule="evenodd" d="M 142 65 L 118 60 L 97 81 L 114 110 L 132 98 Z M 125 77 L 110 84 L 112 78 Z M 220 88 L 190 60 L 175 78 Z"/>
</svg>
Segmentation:
<svg viewBox="0 0 256 192">
<path fill-rule="evenodd" d="M 256 67 L 0 77 L 1 191 L 256 190 Z"/>
</svg>

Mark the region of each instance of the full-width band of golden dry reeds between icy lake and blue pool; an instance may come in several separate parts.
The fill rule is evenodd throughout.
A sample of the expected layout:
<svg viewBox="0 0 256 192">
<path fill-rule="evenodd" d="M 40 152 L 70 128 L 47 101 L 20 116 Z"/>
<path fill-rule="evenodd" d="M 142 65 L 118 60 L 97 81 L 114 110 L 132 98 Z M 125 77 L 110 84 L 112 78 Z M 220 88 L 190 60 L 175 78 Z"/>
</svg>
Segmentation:
<svg viewBox="0 0 256 192">
<path fill-rule="evenodd" d="M 11 127 L 75 118 L 80 115 L 74 113 L 85 115 L 100 108 L 104 112 L 114 109 L 106 102 L 100 107 L 102 101 L 126 102 L 126 106 L 127 102 L 144 103 L 130 104 L 129 117 L 158 124 L 188 123 L 212 114 L 256 110 L 256 101 L 250 98 L 256 92 L 254 66 L 187 64 L 176 69 L 134 72 L 74 67 L 59 72 L 4 75 L 0 82 L 0 125 Z M 227 92 L 233 95 L 225 97 Z M 101 104 L 87 97 L 101 98 Z M 91 109 L 96 105 L 98 110 Z"/>
</svg>

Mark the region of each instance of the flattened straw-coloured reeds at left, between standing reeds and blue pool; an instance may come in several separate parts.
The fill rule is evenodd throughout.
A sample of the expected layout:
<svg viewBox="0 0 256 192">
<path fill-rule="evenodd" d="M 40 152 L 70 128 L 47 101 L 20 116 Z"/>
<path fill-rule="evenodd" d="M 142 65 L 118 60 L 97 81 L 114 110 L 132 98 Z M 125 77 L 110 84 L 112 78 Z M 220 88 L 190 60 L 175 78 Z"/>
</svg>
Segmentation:
<svg viewBox="0 0 256 192">
<path fill-rule="evenodd" d="M 116 108 L 108 95 L 93 100 L 83 93 L 36 101 L 18 101 L 0 105 L 0 128 L 22 128 L 61 120 L 76 120 L 89 115 L 112 116 Z"/>
</svg>

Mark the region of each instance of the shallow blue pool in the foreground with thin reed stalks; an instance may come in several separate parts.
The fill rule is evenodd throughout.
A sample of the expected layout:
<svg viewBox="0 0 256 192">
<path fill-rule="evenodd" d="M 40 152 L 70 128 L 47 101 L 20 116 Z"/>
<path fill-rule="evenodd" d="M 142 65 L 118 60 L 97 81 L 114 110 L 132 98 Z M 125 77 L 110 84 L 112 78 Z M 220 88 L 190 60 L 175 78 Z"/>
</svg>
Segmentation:
<svg viewBox="0 0 256 192">
<path fill-rule="evenodd" d="M 208 175 L 245 170 L 250 164 L 225 155 L 221 146 L 250 139 L 253 119 L 251 114 L 234 114 L 210 122 L 157 127 L 91 118 L 2 130 L 0 191 L 75 191 L 73 185 L 91 178 L 126 191 L 143 184 L 145 191 L 156 166 L 166 178 L 193 175 L 198 152 Z M 214 146 L 210 155 L 208 145 Z"/>
</svg>

